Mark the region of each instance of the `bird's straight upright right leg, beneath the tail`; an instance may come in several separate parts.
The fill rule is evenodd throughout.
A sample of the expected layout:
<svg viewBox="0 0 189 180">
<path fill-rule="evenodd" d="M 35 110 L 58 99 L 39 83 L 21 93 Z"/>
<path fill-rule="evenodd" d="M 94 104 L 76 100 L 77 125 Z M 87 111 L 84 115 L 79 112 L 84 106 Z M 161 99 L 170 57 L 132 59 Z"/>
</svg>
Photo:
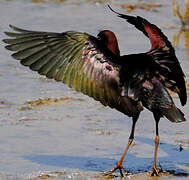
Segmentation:
<svg viewBox="0 0 189 180">
<path fill-rule="evenodd" d="M 158 130 L 158 124 L 159 124 L 159 120 L 160 118 L 157 116 L 155 117 L 155 121 L 156 121 L 156 137 L 154 139 L 155 142 L 155 150 L 154 150 L 154 161 L 153 161 L 153 166 L 152 166 L 152 171 L 151 171 L 151 176 L 159 176 L 159 170 L 156 167 L 156 159 L 157 159 L 157 150 L 158 150 L 158 145 L 159 145 L 159 130 Z"/>
</svg>

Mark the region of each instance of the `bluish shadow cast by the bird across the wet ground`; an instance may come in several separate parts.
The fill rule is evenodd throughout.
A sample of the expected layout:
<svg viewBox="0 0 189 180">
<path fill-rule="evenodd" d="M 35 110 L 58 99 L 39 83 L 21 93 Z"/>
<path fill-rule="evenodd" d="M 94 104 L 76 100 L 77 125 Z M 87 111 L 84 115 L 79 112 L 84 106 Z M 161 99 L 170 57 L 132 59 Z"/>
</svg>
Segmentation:
<svg viewBox="0 0 189 180">
<path fill-rule="evenodd" d="M 144 137 L 136 137 L 137 141 L 153 145 L 153 140 Z M 159 149 L 167 154 L 164 157 L 159 157 L 158 162 L 164 172 L 178 176 L 189 176 L 187 171 L 189 166 L 189 151 L 182 150 L 170 144 L 161 143 Z M 61 168 L 80 169 L 84 171 L 102 172 L 112 168 L 116 161 L 115 159 L 84 157 L 84 156 L 66 156 L 66 155 L 42 155 L 30 154 L 25 155 L 24 159 L 40 165 L 56 166 Z M 145 173 L 151 170 L 153 158 L 136 157 L 128 153 L 124 161 L 126 169 L 132 174 Z M 184 168 L 185 167 L 185 168 Z"/>
</svg>

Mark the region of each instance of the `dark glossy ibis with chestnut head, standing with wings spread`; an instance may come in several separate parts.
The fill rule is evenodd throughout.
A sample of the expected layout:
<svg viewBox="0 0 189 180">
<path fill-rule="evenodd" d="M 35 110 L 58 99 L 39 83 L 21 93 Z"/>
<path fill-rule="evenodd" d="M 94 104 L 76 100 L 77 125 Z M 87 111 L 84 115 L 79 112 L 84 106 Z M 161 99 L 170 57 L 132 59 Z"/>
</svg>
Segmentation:
<svg viewBox="0 0 189 180">
<path fill-rule="evenodd" d="M 116 170 L 124 176 L 123 160 L 134 140 L 135 125 L 140 112 L 146 108 L 155 119 L 155 150 L 151 176 L 159 176 L 156 167 L 159 145 L 159 121 L 185 121 L 184 113 L 176 107 L 170 91 L 177 93 L 182 106 L 187 102 L 185 75 L 175 50 L 155 25 L 143 17 L 120 14 L 118 17 L 135 26 L 149 38 L 147 52 L 121 55 L 118 40 L 111 30 L 97 36 L 86 32 L 61 33 L 25 30 L 13 25 L 14 32 L 5 32 L 4 39 L 12 57 L 40 75 L 67 84 L 104 106 L 116 109 L 132 119 L 128 143 L 118 163 L 103 175 Z"/>
</svg>

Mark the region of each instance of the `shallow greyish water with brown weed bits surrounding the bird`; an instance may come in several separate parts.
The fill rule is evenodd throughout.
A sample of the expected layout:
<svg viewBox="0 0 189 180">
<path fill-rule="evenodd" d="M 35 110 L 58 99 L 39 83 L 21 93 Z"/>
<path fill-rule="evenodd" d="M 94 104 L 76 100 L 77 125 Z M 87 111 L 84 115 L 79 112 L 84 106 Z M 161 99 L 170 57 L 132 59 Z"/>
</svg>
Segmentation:
<svg viewBox="0 0 189 180">
<path fill-rule="evenodd" d="M 115 1 L 119 2 L 123 1 Z M 179 29 L 165 28 L 179 26 L 179 20 L 172 15 L 171 1 L 155 2 L 163 5 L 159 12 L 136 9 L 132 14 L 146 17 L 173 40 Z M 114 9 L 127 13 L 117 6 Z M 77 30 L 93 35 L 101 29 L 111 29 L 118 36 L 122 54 L 143 52 L 150 47 L 148 39 L 112 14 L 107 4 L 0 0 L 0 15 L 1 39 L 5 38 L 3 32 L 10 30 L 9 24 L 32 30 Z M 181 33 L 175 49 L 189 80 L 186 32 Z M 13 60 L 4 45 L 0 42 L 0 179 L 103 179 L 99 173 L 113 167 L 121 156 L 131 120 L 62 83 L 31 72 Z M 39 98 L 51 98 L 50 104 L 26 104 Z M 175 102 L 179 106 L 177 98 Z M 189 103 L 182 108 L 186 119 L 188 109 Z M 154 126 L 151 113 L 143 111 L 136 127 L 135 145 L 124 161 L 130 172 L 128 178 L 189 178 L 189 121 L 174 124 L 166 119 L 159 126 L 158 163 L 169 173 L 164 172 L 159 178 L 148 175 L 153 162 Z"/>
</svg>

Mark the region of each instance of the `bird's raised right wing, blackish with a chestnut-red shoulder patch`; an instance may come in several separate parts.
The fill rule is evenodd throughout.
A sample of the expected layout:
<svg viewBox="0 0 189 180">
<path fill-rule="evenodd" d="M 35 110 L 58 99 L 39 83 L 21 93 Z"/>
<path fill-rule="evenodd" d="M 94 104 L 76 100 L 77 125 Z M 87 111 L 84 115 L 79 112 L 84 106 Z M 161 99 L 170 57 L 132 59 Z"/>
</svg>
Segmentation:
<svg viewBox="0 0 189 180">
<path fill-rule="evenodd" d="M 110 6 L 109 8 L 115 12 Z M 146 19 L 140 16 L 134 17 L 115 13 L 118 17 L 133 24 L 150 39 L 151 50 L 147 54 L 161 67 L 161 78 L 165 86 L 171 91 L 178 93 L 181 104 L 185 105 L 187 101 L 185 76 L 171 42 L 156 25 L 151 24 Z"/>
</svg>

